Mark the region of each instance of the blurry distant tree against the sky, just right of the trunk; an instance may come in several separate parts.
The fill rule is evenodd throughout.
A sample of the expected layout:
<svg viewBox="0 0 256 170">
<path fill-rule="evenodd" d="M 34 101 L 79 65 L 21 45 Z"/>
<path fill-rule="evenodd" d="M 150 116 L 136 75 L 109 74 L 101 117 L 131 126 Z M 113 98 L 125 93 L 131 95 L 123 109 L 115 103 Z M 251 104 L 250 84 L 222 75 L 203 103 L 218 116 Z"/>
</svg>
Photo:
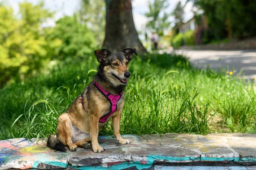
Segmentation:
<svg viewBox="0 0 256 170">
<path fill-rule="evenodd" d="M 160 12 L 168 6 L 167 0 L 149 1 L 149 12 L 145 15 L 146 17 L 153 17 L 153 20 L 149 21 L 146 27 L 155 30 L 159 35 L 163 35 L 163 30 L 169 28 L 171 22 L 168 21 L 169 14 L 167 12 L 163 13 L 163 17 L 160 17 Z"/>
</svg>

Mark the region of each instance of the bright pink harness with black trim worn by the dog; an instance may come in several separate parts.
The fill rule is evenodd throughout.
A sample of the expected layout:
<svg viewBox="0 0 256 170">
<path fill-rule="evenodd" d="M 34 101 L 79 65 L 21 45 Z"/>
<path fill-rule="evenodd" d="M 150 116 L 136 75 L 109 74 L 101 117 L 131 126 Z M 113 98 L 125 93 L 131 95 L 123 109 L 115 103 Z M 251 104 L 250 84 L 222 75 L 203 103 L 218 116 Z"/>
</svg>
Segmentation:
<svg viewBox="0 0 256 170">
<path fill-rule="evenodd" d="M 93 81 L 95 87 L 103 94 L 103 96 L 106 97 L 106 99 L 108 99 L 109 103 L 110 103 L 110 107 L 111 107 L 111 111 L 107 114 L 105 114 L 104 116 L 102 116 L 99 119 L 100 123 L 105 123 L 108 119 L 109 116 L 111 116 L 111 114 L 113 114 L 116 110 L 117 110 L 117 102 L 119 101 L 119 99 L 121 99 L 121 96 L 123 94 L 123 92 L 121 92 L 119 95 L 113 95 L 111 93 L 108 93 L 107 91 L 105 91 L 102 87 L 100 87 L 100 85 L 98 83 L 96 83 L 95 81 Z M 84 108 L 84 104 L 83 104 L 83 96 L 81 94 L 81 103 L 83 105 Z M 86 108 L 84 108 L 84 111 L 86 111 Z"/>
</svg>

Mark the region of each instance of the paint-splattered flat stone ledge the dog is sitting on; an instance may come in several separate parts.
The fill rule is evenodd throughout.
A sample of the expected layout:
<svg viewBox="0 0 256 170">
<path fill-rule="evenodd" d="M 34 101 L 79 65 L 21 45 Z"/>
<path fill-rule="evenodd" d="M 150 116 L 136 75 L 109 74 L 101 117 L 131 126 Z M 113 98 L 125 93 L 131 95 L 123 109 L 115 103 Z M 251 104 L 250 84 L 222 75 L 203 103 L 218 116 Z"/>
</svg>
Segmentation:
<svg viewBox="0 0 256 170">
<path fill-rule="evenodd" d="M 157 166 L 256 165 L 256 135 L 217 133 L 123 135 L 131 144 L 118 144 L 113 136 L 99 136 L 106 151 L 79 148 L 61 153 L 47 148 L 45 140 L 24 138 L 0 141 L 0 169 L 152 169 Z M 222 165 L 221 165 L 222 166 Z"/>
</svg>

